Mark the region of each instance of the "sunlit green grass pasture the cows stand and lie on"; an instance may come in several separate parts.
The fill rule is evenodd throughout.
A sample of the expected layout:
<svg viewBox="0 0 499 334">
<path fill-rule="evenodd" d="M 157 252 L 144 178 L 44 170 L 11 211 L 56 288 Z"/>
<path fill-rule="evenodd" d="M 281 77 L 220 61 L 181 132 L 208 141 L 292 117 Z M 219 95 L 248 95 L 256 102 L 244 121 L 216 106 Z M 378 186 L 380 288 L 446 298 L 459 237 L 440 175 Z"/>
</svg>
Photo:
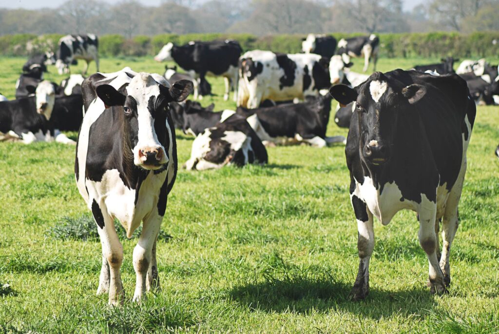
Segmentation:
<svg viewBox="0 0 499 334">
<path fill-rule="evenodd" d="M 24 60 L 0 58 L 8 98 Z M 378 69 L 435 60 L 380 59 Z M 151 58 L 104 58 L 101 71 L 125 65 L 163 72 Z M 223 80 L 209 81 L 218 96 L 202 104 L 234 107 Z M 346 135 L 332 118 L 328 135 Z M 192 141 L 177 132 L 180 164 Z M 115 309 L 95 296 L 101 247 L 76 189 L 75 147 L 0 143 L 0 333 L 499 333 L 498 143 L 499 107 L 481 106 L 448 295 L 430 295 L 419 224 L 406 211 L 375 223 L 371 292 L 350 302 L 357 226 L 344 146 L 288 146 L 268 148 L 266 166 L 180 170 L 158 242 L 162 291 L 130 301 L 137 240 L 123 238 L 127 302 Z"/>
</svg>

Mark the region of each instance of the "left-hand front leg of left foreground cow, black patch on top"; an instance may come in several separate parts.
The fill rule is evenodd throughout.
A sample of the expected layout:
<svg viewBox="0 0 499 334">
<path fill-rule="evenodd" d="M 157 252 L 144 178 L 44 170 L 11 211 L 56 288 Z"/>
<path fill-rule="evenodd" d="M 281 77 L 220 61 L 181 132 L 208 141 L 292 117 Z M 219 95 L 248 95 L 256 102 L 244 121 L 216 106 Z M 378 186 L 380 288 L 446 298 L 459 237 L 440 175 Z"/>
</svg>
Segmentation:
<svg viewBox="0 0 499 334">
<path fill-rule="evenodd" d="M 92 215 L 97 223 L 97 232 L 102 244 L 102 256 L 109 266 L 109 304 L 123 303 L 125 292 L 121 283 L 120 268 L 123 263 L 123 246 L 116 234 L 113 219 L 96 202 L 92 205 Z M 97 293 L 104 292 L 106 287 L 107 266 L 102 265 Z M 102 285 L 101 285 L 102 284 Z"/>
</svg>

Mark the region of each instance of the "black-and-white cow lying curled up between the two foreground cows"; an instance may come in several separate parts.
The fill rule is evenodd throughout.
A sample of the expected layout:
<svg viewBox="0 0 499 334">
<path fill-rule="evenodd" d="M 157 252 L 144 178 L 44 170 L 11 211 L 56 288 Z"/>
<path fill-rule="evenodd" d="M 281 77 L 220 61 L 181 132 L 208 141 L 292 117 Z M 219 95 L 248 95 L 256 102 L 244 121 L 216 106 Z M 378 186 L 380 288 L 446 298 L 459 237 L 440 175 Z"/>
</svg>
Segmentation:
<svg viewBox="0 0 499 334">
<path fill-rule="evenodd" d="M 267 150 L 244 117 L 232 115 L 194 139 L 187 170 L 266 164 Z"/>
</svg>

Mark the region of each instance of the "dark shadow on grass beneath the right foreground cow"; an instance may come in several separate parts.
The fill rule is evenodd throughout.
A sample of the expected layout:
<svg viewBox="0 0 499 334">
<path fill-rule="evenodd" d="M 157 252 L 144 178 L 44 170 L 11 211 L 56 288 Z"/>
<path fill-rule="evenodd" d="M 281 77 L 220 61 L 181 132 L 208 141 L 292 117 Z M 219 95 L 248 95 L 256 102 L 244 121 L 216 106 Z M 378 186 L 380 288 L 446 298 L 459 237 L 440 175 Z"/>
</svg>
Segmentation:
<svg viewBox="0 0 499 334">
<path fill-rule="evenodd" d="M 341 312 L 379 320 L 394 315 L 428 314 L 437 305 L 428 289 L 402 291 L 370 290 L 369 296 L 360 302 L 349 299 L 353 282 L 320 280 L 274 280 L 250 283 L 235 287 L 231 298 L 252 311 L 294 312 Z"/>
</svg>

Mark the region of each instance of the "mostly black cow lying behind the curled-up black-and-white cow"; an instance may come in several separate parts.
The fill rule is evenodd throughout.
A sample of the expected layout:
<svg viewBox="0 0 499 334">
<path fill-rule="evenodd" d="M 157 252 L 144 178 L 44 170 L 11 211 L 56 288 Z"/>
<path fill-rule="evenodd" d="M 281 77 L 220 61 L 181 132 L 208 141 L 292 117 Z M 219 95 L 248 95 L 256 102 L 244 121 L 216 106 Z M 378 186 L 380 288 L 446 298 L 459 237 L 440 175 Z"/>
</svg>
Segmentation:
<svg viewBox="0 0 499 334">
<path fill-rule="evenodd" d="M 251 128 L 266 144 L 304 142 L 315 147 L 343 142 L 345 137 L 326 137 L 331 112 L 331 96 L 309 98 L 302 103 L 247 109 L 238 107 L 237 114 L 248 119 Z"/>
</svg>

